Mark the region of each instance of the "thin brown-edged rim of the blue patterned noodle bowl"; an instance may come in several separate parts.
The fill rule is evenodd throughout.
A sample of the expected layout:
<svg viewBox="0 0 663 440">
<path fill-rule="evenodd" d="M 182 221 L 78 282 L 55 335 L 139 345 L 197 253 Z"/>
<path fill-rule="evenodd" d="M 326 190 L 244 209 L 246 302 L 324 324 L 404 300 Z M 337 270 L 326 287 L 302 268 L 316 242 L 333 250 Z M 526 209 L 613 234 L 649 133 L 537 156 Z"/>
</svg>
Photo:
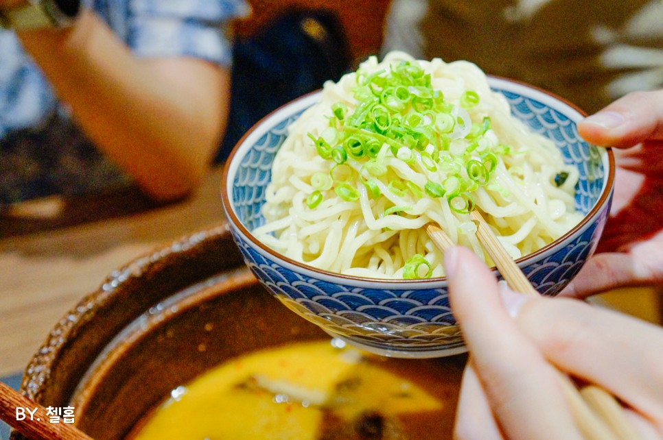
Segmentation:
<svg viewBox="0 0 663 440">
<path fill-rule="evenodd" d="M 546 106 L 549 106 L 550 108 L 554 108 L 557 111 L 560 111 L 557 106 L 560 104 L 562 106 L 568 107 L 570 110 L 575 112 L 576 114 L 566 114 L 565 116 L 568 117 L 572 122 L 578 123 L 581 121 L 583 118 L 587 117 L 587 113 L 576 106 L 574 103 L 571 103 L 568 101 L 568 99 L 565 99 L 563 97 L 560 97 L 559 95 L 552 93 L 548 90 L 545 90 L 544 88 L 540 88 L 538 86 L 534 86 L 532 84 L 528 84 L 527 82 L 520 81 L 520 80 L 513 80 L 511 78 L 507 77 L 500 77 L 497 75 L 487 75 L 488 80 L 489 80 L 489 86 L 491 86 L 491 89 L 493 86 L 509 86 L 511 85 L 512 87 L 520 87 L 524 89 L 531 90 L 533 92 L 532 95 L 527 95 L 526 97 L 531 98 L 531 99 L 537 99 L 538 101 L 546 104 Z M 226 159 L 224 162 L 224 167 L 223 167 L 223 173 L 222 173 L 222 178 L 221 178 L 221 199 L 222 199 L 222 206 L 226 212 L 226 219 L 229 221 L 230 225 L 233 225 L 241 234 L 251 242 L 251 244 L 254 247 L 257 247 L 260 249 L 264 254 L 270 255 L 272 258 L 275 260 L 283 263 L 286 267 L 294 267 L 296 269 L 299 269 L 299 271 L 310 271 L 312 273 L 315 273 L 316 276 L 323 280 L 334 280 L 334 279 L 341 279 L 347 284 L 355 285 L 355 286 L 375 286 L 377 284 L 386 284 L 388 286 L 398 288 L 400 286 L 417 286 L 419 284 L 423 284 L 425 286 L 430 286 L 430 284 L 433 284 L 434 286 L 439 286 L 439 285 L 445 285 L 447 282 L 447 277 L 437 277 L 437 278 L 417 278 L 413 280 L 399 280 L 399 279 L 390 279 L 390 278 L 368 278 L 368 277 L 362 277 L 362 276 L 353 276 L 353 275 L 347 275 L 345 273 L 336 273 L 332 271 L 326 271 L 324 269 L 318 269 L 317 267 L 313 267 L 310 265 L 307 265 L 303 262 L 299 262 L 297 260 L 293 260 L 292 258 L 289 258 L 287 256 L 284 256 L 282 254 L 279 254 L 276 252 L 274 249 L 271 249 L 261 241 L 259 241 L 248 228 L 240 221 L 240 219 L 237 217 L 235 214 L 235 210 L 233 208 L 233 204 L 231 203 L 230 197 L 229 197 L 229 187 L 232 185 L 229 185 L 229 177 L 231 174 L 231 169 L 233 168 L 233 162 L 236 157 L 239 156 L 239 151 L 242 149 L 242 146 L 244 145 L 244 142 L 246 139 L 251 136 L 254 132 L 259 130 L 261 126 L 266 123 L 269 119 L 272 119 L 276 114 L 283 112 L 287 108 L 291 107 L 299 107 L 303 105 L 303 101 L 309 101 L 312 100 L 314 96 L 320 95 L 322 93 L 323 89 L 318 89 L 314 90 L 310 93 L 306 93 L 305 95 L 302 95 L 301 97 L 297 97 L 293 99 L 292 101 L 289 101 L 282 106 L 279 106 L 272 112 L 266 114 L 263 118 L 259 119 L 257 123 L 255 123 L 251 129 L 249 129 L 240 140 L 237 141 L 235 146 L 233 147 L 229 157 Z M 556 106 L 550 106 L 550 103 L 556 103 Z M 308 107 L 303 107 L 299 109 L 299 111 L 305 110 Z M 526 267 L 528 265 L 528 262 L 531 260 L 537 259 L 539 256 L 542 254 L 547 254 L 548 252 L 552 252 L 552 249 L 555 247 L 563 245 L 563 243 L 566 243 L 567 241 L 570 241 L 572 237 L 582 230 L 584 230 L 587 226 L 588 223 L 591 221 L 594 221 L 598 213 L 604 208 L 605 204 L 609 200 L 609 196 L 612 194 L 612 190 L 614 187 L 614 178 L 615 178 L 615 160 L 614 160 L 614 154 L 612 152 L 611 147 L 597 147 L 601 150 L 603 150 L 602 156 L 605 154 L 607 156 L 607 169 L 604 170 L 604 175 L 605 175 L 605 181 L 603 183 L 603 188 L 601 188 L 601 195 L 599 195 L 598 200 L 596 203 L 594 203 L 594 206 L 589 210 L 589 212 L 583 216 L 583 219 L 579 221 L 576 225 L 574 225 L 573 228 L 568 230 L 565 234 L 560 236 L 558 239 L 548 243 L 548 245 L 545 245 L 541 249 L 538 249 L 535 252 L 532 252 L 531 254 L 527 254 L 525 256 L 522 256 L 520 258 L 517 258 L 515 260 L 516 265 L 519 267 Z M 242 159 L 244 156 L 242 156 Z M 605 159 L 602 158 L 601 162 L 605 164 Z M 233 176 L 234 177 L 234 176 Z M 608 207 L 609 208 L 609 207 Z M 493 273 L 498 273 L 496 267 L 492 267 L 491 270 Z"/>
</svg>

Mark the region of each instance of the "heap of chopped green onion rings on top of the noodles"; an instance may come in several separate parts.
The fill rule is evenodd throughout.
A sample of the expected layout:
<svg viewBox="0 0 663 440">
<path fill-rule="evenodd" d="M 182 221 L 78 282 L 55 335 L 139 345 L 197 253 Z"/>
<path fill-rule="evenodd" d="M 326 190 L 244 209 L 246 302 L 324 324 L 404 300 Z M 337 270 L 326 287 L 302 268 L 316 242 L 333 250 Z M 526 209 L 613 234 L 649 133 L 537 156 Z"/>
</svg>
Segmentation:
<svg viewBox="0 0 663 440">
<path fill-rule="evenodd" d="M 419 64 L 404 61 L 388 71 L 360 69 L 353 95 L 356 106 L 334 103 L 329 127 L 321 134 L 308 134 L 318 155 L 332 162 L 329 175 L 316 173 L 311 178 L 315 191 L 333 188 L 341 199 L 355 201 L 363 184 L 374 209 L 384 209 L 377 208 L 384 206 L 380 188 L 408 206 L 425 197 L 445 197 L 460 214 L 474 208 L 472 194 L 480 186 L 507 193 L 490 182 L 501 156 L 510 154 L 511 147 L 493 146 L 490 119 L 473 121 L 463 110 L 480 102 L 475 90 L 466 90 L 458 101 L 447 101 L 432 88 L 430 75 Z M 406 177 L 422 171 L 425 184 Z M 561 181 L 561 173 L 555 181 Z M 310 195 L 307 205 L 317 206 L 317 198 Z M 400 212 L 397 208 L 403 206 L 386 208 L 381 215 Z"/>
</svg>

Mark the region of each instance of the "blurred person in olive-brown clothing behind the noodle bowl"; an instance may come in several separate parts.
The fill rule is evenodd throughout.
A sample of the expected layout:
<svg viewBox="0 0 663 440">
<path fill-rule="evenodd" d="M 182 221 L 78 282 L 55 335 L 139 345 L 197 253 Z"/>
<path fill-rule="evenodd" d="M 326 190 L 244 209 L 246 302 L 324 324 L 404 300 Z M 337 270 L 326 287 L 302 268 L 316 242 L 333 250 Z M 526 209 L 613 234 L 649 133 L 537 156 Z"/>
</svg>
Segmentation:
<svg viewBox="0 0 663 440">
<path fill-rule="evenodd" d="M 663 86 L 660 0 L 393 0 L 383 53 L 469 60 L 596 112 Z"/>
</svg>

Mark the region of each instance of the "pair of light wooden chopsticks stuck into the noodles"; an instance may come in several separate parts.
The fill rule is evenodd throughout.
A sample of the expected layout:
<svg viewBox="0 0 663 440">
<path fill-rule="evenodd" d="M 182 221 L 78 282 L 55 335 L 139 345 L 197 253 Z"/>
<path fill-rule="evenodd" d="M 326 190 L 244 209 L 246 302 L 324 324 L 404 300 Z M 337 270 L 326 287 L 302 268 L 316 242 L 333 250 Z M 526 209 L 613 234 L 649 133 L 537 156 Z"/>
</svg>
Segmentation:
<svg viewBox="0 0 663 440">
<path fill-rule="evenodd" d="M 513 291 L 523 295 L 539 296 L 532 284 L 513 258 L 507 254 L 506 249 L 491 230 L 488 223 L 476 210 L 470 213 L 472 221 L 476 224 L 476 236 L 482 247 L 495 262 L 496 267 L 504 280 Z M 442 252 L 452 247 L 454 243 L 437 223 L 428 223 L 425 226 L 430 239 Z M 563 387 L 568 404 L 570 404 L 574 419 L 583 436 L 588 440 L 637 440 L 640 435 L 633 429 L 626 418 L 621 405 L 613 395 L 590 384 L 577 389 L 574 382 L 559 371 L 559 381 Z"/>
</svg>

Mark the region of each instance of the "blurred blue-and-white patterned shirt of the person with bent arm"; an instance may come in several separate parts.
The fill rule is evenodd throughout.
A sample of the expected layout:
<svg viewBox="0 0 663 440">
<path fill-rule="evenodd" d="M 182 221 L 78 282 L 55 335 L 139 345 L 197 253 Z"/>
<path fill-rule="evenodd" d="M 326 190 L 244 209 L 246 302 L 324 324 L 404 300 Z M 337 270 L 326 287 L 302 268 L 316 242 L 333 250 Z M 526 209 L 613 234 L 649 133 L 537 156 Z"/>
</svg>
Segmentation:
<svg viewBox="0 0 663 440">
<path fill-rule="evenodd" d="M 244 0 L 93 0 L 139 57 L 191 56 L 229 67 L 227 25 Z M 126 184 L 71 122 L 16 35 L 0 30 L 0 204 Z"/>
</svg>

